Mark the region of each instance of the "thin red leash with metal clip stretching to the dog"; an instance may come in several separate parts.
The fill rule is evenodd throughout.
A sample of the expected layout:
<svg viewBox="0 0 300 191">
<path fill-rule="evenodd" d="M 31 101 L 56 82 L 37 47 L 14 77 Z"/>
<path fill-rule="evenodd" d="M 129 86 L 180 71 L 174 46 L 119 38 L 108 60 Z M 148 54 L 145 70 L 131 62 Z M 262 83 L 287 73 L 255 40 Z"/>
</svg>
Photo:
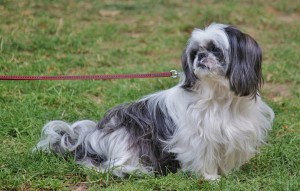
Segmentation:
<svg viewBox="0 0 300 191">
<path fill-rule="evenodd" d="M 132 78 L 177 78 L 179 73 L 176 70 L 170 72 L 148 73 L 148 74 L 100 74 L 84 76 L 0 76 L 0 80 L 112 80 Z"/>
</svg>

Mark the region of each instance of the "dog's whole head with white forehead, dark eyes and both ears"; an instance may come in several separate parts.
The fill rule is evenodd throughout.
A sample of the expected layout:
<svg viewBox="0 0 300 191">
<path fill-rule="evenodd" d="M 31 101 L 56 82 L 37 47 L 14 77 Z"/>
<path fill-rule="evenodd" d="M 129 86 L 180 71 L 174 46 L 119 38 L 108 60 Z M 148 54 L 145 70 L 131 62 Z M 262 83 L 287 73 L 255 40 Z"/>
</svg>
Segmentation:
<svg viewBox="0 0 300 191">
<path fill-rule="evenodd" d="M 256 41 L 232 26 L 195 29 L 182 56 L 182 87 L 192 90 L 198 81 L 218 79 L 238 96 L 255 97 L 262 82 L 261 60 Z"/>
</svg>

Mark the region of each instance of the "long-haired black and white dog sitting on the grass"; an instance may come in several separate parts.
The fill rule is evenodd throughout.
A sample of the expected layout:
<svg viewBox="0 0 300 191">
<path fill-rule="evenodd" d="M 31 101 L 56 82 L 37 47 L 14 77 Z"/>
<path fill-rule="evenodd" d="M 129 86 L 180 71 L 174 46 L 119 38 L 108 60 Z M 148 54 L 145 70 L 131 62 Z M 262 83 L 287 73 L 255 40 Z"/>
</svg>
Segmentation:
<svg viewBox="0 0 300 191">
<path fill-rule="evenodd" d="M 190 171 L 208 180 L 238 168 L 264 143 L 274 113 L 259 95 L 262 52 L 233 26 L 195 29 L 175 87 L 117 106 L 97 124 L 51 121 L 37 150 L 72 153 L 117 176 Z"/>
</svg>

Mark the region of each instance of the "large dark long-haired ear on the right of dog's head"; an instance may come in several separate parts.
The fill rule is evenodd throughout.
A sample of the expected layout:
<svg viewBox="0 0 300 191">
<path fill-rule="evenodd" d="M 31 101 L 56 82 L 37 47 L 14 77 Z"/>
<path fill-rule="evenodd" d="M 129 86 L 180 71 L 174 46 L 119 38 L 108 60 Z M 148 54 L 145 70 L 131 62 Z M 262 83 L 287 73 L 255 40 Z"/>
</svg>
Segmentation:
<svg viewBox="0 0 300 191">
<path fill-rule="evenodd" d="M 230 88 L 236 95 L 255 98 L 263 81 L 261 48 L 252 37 L 235 27 L 226 27 L 224 31 L 230 45 L 226 71 Z"/>
</svg>

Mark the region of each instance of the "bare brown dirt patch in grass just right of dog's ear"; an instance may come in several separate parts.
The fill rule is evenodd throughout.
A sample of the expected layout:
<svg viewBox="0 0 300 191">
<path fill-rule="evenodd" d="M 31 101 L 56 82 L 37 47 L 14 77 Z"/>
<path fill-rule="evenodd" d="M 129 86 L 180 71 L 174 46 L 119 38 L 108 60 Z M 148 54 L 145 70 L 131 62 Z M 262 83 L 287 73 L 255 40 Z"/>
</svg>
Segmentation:
<svg viewBox="0 0 300 191">
<path fill-rule="evenodd" d="M 263 86 L 263 95 L 269 100 L 279 102 L 283 99 L 292 98 L 291 84 L 280 84 L 280 83 L 265 83 Z"/>
</svg>

